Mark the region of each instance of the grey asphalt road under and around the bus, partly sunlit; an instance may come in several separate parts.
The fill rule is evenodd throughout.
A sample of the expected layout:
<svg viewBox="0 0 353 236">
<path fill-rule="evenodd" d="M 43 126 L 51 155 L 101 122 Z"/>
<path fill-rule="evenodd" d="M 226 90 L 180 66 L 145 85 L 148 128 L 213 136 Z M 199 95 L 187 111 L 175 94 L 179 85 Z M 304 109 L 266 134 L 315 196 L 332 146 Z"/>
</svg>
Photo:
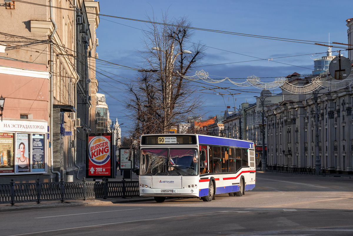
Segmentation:
<svg viewBox="0 0 353 236">
<path fill-rule="evenodd" d="M 257 173 L 241 197 L 169 199 L 0 215 L 8 235 L 353 235 L 353 179 Z"/>
</svg>

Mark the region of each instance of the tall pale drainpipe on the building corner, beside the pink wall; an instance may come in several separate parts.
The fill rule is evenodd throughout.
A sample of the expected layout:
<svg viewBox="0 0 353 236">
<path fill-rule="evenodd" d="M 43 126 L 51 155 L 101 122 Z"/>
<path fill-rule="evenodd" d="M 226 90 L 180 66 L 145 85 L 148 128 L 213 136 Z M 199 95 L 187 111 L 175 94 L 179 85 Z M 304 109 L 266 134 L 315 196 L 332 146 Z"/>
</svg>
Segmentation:
<svg viewBox="0 0 353 236">
<path fill-rule="evenodd" d="M 56 32 L 56 29 L 58 26 L 55 23 L 55 20 L 53 19 L 53 0 L 49 0 L 49 12 L 50 12 L 50 21 L 53 23 L 54 30 L 52 34 L 49 35 L 50 39 L 50 114 L 49 114 L 49 130 L 50 130 L 50 138 L 49 138 L 49 146 L 50 146 L 50 157 L 52 159 L 52 163 L 50 165 L 50 171 L 58 176 L 59 181 L 61 181 L 60 177 L 60 172 L 59 171 L 54 171 L 53 169 L 53 100 L 54 100 L 54 83 L 53 83 L 53 73 L 54 73 L 54 66 L 53 66 L 53 60 L 54 60 L 54 50 L 53 50 L 53 37 Z"/>
</svg>

